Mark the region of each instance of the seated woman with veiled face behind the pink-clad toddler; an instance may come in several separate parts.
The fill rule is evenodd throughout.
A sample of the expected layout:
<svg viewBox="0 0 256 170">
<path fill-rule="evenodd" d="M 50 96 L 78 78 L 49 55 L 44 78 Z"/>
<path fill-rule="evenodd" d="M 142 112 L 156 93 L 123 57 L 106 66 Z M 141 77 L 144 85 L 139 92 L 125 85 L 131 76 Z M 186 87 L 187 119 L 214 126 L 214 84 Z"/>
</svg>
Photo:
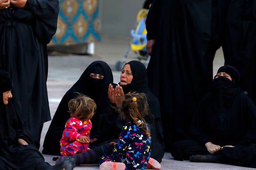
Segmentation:
<svg viewBox="0 0 256 170">
<path fill-rule="evenodd" d="M 108 85 L 113 83 L 113 75 L 110 67 L 103 61 L 92 62 L 78 79 L 78 81 L 66 92 L 52 118 L 51 125 L 44 139 L 44 154 L 60 155 L 60 139 L 62 137 L 65 123 L 70 118 L 68 112 L 69 100 L 75 98 L 78 93 L 92 98 L 96 103 L 95 115 L 91 119 L 93 128 L 90 138 L 92 142 L 101 143 L 105 141 L 100 137 L 100 115 L 108 111 L 110 101 L 108 99 Z M 78 92 L 78 93 L 77 93 Z M 91 146 L 90 146 L 91 147 Z"/>
</svg>

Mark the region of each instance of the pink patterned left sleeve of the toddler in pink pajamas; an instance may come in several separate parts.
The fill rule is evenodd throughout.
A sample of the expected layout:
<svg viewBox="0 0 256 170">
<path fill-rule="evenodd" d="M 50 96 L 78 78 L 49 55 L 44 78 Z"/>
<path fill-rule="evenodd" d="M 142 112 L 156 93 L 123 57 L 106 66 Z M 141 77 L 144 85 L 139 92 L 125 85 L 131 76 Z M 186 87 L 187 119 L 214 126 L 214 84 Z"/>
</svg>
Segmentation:
<svg viewBox="0 0 256 170">
<path fill-rule="evenodd" d="M 66 126 L 65 129 L 63 131 L 63 138 L 70 142 L 70 141 L 75 141 L 76 139 L 79 139 L 79 137 L 81 136 L 78 132 L 77 132 L 77 127 L 76 127 L 76 120 L 73 120 L 72 118 L 70 118 L 68 120 L 68 122 L 66 122 Z"/>
</svg>

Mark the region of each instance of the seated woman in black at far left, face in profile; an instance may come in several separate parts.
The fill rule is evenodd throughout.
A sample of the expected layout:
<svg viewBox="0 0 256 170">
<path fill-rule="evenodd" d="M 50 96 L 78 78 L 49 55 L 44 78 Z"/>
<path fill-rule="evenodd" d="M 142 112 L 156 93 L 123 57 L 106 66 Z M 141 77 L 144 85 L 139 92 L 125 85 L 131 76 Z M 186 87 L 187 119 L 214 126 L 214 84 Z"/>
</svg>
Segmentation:
<svg viewBox="0 0 256 170">
<path fill-rule="evenodd" d="M 55 166 L 44 162 L 43 155 L 25 129 L 24 120 L 9 100 L 12 98 L 11 90 L 11 78 L 7 72 L 0 71 L 0 92 L 4 101 L 0 104 L 0 169 L 72 170 L 75 167 L 73 158 L 65 158 Z"/>
</svg>

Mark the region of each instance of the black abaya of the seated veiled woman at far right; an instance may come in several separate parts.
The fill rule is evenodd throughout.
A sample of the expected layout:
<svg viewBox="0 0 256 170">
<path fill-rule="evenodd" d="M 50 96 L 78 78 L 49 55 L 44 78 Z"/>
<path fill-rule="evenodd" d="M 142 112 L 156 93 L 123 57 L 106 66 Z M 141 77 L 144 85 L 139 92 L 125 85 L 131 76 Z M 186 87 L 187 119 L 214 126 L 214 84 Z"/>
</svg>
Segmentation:
<svg viewBox="0 0 256 170">
<path fill-rule="evenodd" d="M 175 159 L 210 154 L 204 144 L 211 142 L 221 147 L 235 146 L 224 147 L 222 151 L 214 153 L 222 154 L 222 163 L 256 167 L 253 152 L 256 143 L 256 107 L 239 89 L 226 94 L 228 96 L 223 101 L 212 92 L 203 98 L 190 128 L 193 140 L 181 140 L 172 145 L 171 153 Z"/>
</svg>

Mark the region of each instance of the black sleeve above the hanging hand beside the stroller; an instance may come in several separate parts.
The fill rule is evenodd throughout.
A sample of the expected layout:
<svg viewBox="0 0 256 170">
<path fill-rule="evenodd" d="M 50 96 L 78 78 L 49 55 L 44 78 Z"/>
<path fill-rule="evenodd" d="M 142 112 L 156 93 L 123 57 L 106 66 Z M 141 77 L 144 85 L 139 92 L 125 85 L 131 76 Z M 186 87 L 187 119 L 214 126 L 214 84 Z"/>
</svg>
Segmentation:
<svg viewBox="0 0 256 170">
<path fill-rule="evenodd" d="M 154 0 L 146 19 L 147 40 L 156 40 L 158 19 L 161 12 L 161 0 Z"/>
</svg>

